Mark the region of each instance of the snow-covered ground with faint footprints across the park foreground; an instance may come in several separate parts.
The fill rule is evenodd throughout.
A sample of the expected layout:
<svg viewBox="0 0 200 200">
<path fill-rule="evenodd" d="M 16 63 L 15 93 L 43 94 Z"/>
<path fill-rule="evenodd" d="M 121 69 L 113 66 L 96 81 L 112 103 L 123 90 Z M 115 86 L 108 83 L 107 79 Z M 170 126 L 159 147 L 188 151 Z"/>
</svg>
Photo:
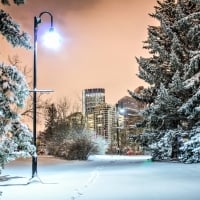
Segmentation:
<svg viewBox="0 0 200 200">
<path fill-rule="evenodd" d="M 39 177 L 31 183 L 31 159 L 17 160 L 1 174 L 8 180 L 0 182 L 3 192 L 0 199 L 175 200 L 181 197 L 188 200 L 189 196 L 190 200 L 199 200 L 199 164 L 152 163 L 150 159 L 149 156 L 95 155 L 88 161 L 66 161 L 39 157 Z M 152 190 L 158 191 L 157 196 Z"/>
</svg>

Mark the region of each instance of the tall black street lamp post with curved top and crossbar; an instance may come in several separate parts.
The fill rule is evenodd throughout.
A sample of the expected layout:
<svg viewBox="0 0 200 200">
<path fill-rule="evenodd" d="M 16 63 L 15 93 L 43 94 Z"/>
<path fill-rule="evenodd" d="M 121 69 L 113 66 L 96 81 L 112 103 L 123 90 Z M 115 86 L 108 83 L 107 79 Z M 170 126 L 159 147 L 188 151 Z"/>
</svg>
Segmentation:
<svg viewBox="0 0 200 200">
<path fill-rule="evenodd" d="M 33 144 L 36 147 L 36 153 L 32 156 L 32 179 L 37 176 L 37 142 L 36 142 L 36 123 L 37 123 L 37 92 L 52 92 L 52 90 L 38 90 L 37 89 L 37 34 L 38 34 L 38 25 L 42 22 L 41 17 L 43 14 L 48 14 L 50 16 L 50 29 L 49 32 L 53 34 L 53 16 L 50 12 L 44 11 L 41 12 L 38 16 L 34 17 L 34 46 L 33 46 Z M 50 38 L 49 38 L 50 39 Z M 53 35 L 53 39 L 51 37 L 51 41 L 48 42 L 56 42 L 55 34 Z M 57 39 L 58 42 L 58 39 Z M 55 45 L 55 44 L 53 44 Z"/>
</svg>

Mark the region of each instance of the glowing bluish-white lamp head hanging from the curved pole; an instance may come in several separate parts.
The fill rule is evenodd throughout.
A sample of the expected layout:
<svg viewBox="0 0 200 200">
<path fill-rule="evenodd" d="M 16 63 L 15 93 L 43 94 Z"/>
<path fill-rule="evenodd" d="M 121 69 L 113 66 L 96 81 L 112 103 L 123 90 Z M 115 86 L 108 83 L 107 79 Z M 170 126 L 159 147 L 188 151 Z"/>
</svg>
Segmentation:
<svg viewBox="0 0 200 200">
<path fill-rule="evenodd" d="M 47 48 L 57 49 L 61 44 L 60 35 L 51 27 L 43 36 L 43 43 Z"/>
</svg>

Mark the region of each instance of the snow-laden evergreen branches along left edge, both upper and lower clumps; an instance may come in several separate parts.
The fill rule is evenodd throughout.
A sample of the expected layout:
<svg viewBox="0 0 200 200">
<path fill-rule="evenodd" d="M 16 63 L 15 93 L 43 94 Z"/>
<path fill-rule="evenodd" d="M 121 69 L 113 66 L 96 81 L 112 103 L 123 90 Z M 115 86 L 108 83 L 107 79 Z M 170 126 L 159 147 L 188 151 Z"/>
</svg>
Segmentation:
<svg viewBox="0 0 200 200">
<path fill-rule="evenodd" d="M 9 5 L 8 0 L 1 1 Z M 15 4 L 23 3 L 15 0 Z M 0 33 L 12 46 L 30 48 L 28 34 L 20 32 L 20 27 L 11 16 L 0 9 Z M 25 77 L 15 67 L 0 63 L 0 169 L 5 163 L 18 157 L 30 156 L 34 151 L 32 134 L 20 121 L 16 107 L 22 107 L 29 94 Z"/>
</svg>

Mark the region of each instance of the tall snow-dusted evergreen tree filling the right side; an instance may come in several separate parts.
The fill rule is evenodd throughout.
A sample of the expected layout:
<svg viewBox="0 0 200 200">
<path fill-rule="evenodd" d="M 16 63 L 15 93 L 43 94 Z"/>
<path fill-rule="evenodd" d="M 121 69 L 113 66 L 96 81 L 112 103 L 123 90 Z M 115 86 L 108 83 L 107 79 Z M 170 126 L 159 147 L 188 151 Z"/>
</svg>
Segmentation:
<svg viewBox="0 0 200 200">
<path fill-rule="evenodd" d="M 139 95 L 129 91 L 133 98 L 148 104 L 141 124 L 145 131 L 140 138 L 150 147 L 154 159 L 180 158 L 184 162 L 197 162 L 200 147 L 199 133 L 195 131 L 200 126 L 200 1 L 158 1 L 155 13 L 150 16 L 160 22 L 159 26 L 148 27 L 144 48 L 151 56 L 137 58 L 138 76 L 149 87 Z M 191 153 L 191 148 L 196 149 L 195 153 Z"/>
</svg>

